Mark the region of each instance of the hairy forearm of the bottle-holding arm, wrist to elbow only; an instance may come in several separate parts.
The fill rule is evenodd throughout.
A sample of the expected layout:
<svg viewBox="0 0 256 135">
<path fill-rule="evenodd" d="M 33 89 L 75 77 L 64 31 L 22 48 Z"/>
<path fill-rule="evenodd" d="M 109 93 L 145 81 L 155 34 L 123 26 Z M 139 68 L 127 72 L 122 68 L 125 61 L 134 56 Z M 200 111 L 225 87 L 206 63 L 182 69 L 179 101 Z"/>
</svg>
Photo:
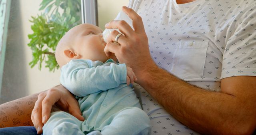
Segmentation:
<svg viewBox="0 0 256 135">
<path fill-rule="evenodd" d="M 167 71 L 150 66 L 137 72 L 138 83 L 166 111 L 188 127 L 204 134 L 244 134 L 250 105 L 234 95 L 190 85 Z M 244 127 L 243 127 L 244 126 Z M 250 132 L 250 131 L 249 131 Z"/>
</svg>

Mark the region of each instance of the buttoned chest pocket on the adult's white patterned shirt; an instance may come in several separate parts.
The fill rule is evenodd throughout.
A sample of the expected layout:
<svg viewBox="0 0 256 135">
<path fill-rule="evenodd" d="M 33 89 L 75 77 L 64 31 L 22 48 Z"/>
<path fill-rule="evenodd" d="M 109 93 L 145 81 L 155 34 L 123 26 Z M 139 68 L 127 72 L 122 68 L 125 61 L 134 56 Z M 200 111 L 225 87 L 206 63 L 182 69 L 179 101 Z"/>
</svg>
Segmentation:
<svg viewBox="0 0 256 135">
<path fill-rule="evenodd" d="M 179 42 L 173 54 L 171 73 L 185 81 L 202 77 L 209 40 Z"/>
</svg>

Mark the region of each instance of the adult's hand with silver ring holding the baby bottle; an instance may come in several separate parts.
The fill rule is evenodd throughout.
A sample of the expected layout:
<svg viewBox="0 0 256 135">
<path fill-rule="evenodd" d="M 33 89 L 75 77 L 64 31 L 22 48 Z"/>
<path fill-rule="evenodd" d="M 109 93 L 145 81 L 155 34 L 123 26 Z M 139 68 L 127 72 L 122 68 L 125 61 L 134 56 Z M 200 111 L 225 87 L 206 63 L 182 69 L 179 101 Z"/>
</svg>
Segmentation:
<svg viewBox="0 0 256 135">
<path fill-rule="evenodd" d="M 124 20 L 112 20 L 106 24 L 106 28 L 118 28 L 123 35 L 118 38 L 119 44 L 114 43 L 116 36 L 119 34 L 114 30 L 108 36 L 104 52 L 107 56 L 114 53 L 118 61 L 131 67 L 140 79 L 143 70 L 155 66 L 148 48 L 148 37 L 144 30 L 142 18 L 131 8 L 123 6 L 122 10 L 132 19 L 134 30 Z"/>
</svg>

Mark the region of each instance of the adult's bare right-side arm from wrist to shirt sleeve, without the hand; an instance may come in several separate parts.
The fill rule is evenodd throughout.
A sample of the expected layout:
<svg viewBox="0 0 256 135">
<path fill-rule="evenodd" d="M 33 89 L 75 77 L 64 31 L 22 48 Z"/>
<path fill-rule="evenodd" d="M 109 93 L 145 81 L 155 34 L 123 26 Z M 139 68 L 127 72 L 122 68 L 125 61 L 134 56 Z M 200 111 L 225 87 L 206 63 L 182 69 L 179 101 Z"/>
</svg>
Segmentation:
<svg viewBox="0 0 256 135">
<path fill-rule="evenodd" d="M 136 75 L 166 111 L 195 131 L 249 135 L 256 127 L 256 77 L 228 77 L 222 79 L 220 92 L 211 92 L 157 67 Z"/>
</svg>

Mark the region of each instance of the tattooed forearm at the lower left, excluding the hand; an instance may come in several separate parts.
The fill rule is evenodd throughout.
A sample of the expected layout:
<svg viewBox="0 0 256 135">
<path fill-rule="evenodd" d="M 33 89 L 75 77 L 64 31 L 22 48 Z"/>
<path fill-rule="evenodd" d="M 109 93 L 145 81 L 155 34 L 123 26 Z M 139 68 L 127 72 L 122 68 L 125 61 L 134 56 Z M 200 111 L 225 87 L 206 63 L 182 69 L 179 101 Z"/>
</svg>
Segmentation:
<svg viewBox="0 0 256 135">
<path fill-rule="evenodd" d="M 0 105 L 0 128 L 34 126 L 30 116 L 38 94 L 22 97 Z"/>
</svg>

